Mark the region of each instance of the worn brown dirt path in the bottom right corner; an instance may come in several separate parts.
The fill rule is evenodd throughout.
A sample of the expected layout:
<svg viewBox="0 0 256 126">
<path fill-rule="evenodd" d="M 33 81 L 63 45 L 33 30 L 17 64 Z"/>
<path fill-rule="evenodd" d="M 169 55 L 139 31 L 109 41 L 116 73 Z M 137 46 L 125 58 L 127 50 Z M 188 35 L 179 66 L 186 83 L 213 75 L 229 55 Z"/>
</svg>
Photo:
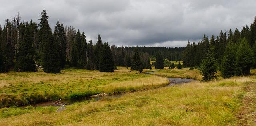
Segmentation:
<svg viewBox="0 0 256 126">
<path fill-rule="evenodd" d="M 245 83 L 242 106 L 236 117 L 238 126 L 256 126 L 256 85 L 255 82 Z"/>
</svg>

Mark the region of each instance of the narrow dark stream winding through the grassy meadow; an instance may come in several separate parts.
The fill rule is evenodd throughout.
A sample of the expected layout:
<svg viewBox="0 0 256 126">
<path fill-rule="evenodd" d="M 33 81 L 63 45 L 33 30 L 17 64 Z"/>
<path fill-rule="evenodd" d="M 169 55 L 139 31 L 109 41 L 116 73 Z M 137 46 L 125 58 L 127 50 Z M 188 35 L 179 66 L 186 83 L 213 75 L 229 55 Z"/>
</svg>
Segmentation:
<svg viewBox="0 0 256 126">
<path fill-rule="evenodd" d="M 154 72 L 145 72 L 144 74 L 150 75 Z M 186 79 L 186 78 L 167 78 L 169 80 L 169 84 L 166 85 L 166 87 L 177 85 L 177 84 L 183 84 L 188 83 L 191 81 L 196 81 L 194 79 Z M 106 98 L 120 98 L 124 94 L 114 94 L 114 95 L 106 95 L 106 96 L 95 96 L 95 97 L 86 97 L 86 98 L 80 98 L 80 99 L 64 99 L 64 100 L 58 100 L 58 101 L 49 101 L 49 102 L 40 102 L 36 104 L 28 104 L 25 106 L 21 106 L 22 108 L 26 106 L 34 106 L 34 107 L 44 107 L 44 106 L 63 106 L 63 105 L 70 105 L 74 103 L 84 102 L 88 100 L 94 100 L 99 101 Z"/>
</svg>

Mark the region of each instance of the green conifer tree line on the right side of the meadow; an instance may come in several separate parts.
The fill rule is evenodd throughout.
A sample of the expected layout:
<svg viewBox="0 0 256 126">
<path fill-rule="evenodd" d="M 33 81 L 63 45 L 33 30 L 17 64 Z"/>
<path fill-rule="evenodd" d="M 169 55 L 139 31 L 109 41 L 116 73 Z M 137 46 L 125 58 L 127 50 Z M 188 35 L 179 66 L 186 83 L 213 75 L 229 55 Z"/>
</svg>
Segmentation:
<svg viewBox="0 0 256 126">
<path fill-rule="evenodd" d="M 248 27 L 234 32 L 221 31 L 218 36 L 206 35 L 197 44 L 188 41 L 183 56 L 184 67 L 198 67 L 202 71 L 203 80 L 216 78 L 220 70 L 222 77 L 249 75 L 250 69 L 256 67 L 256 17 Z"/>
</svg>

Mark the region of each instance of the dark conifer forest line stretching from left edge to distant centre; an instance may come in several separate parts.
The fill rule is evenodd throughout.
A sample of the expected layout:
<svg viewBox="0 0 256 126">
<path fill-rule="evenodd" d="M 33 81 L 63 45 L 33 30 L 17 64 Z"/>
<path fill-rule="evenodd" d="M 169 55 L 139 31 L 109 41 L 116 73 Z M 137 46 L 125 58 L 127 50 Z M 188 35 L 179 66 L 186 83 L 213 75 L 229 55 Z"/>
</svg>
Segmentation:
<svg viewBox="0 0 256 126">
<path fill-rule="evenodd" d="M 184 47 L 116 47 L 103 43 L 100 34 L 93 44 L 92 40 L 87 41 L 85 32 L 64 26 L 59 20 L 52 32 L 46 11 L 40 15 L 39 24 L 32 20 L 21 22 L 18 13 L 7 19 L 3 28 L 0 26 L 0 72 L 12 68 L 37 71 L 42 67 L 46 73 L 60 73 L 69 66 L 113 72 L 116 66 L 135 69 L 136 57 L 140 59 L 141 69 L 151 69 L 150 61 L 157 55 L 172 61 L 182 60 Z"/>
</svg>

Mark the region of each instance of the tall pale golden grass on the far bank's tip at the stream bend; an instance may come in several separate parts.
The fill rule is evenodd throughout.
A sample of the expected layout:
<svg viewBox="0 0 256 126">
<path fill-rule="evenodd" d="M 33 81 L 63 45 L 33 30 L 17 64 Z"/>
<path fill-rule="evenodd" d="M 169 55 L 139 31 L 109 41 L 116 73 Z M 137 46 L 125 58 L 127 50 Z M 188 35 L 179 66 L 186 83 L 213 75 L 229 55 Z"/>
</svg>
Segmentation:
<svg viewBox="0 0 256 126">
<path fill-rule="evenodd" d="M 133 90 L 140 90 L 140 89 L 147 89 L 149 87 L 159 87 L 163 85 L 167 85 L 169 83 L 167 78 L 152 76 L 147 78 L 138 78 L 133 79 L 131 81 L 124 81 L 124 82 L 113 82 L 106 86 L 104 86 L 103 92 L 105 93 L 112 93 L 114 92 L 121 92 L 121 91 L 133 91 Z"/>
</svg>

